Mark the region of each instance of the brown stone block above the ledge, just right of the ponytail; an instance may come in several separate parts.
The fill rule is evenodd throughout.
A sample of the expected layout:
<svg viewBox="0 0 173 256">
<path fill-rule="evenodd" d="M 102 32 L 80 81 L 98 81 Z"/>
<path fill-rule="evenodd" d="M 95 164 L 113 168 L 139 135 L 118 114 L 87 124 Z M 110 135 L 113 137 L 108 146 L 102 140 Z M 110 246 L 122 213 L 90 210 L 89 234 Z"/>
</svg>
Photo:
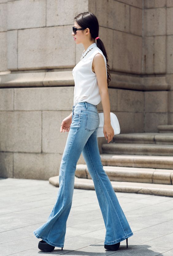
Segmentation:
<svg viewBox="0 0 173 256">
<path fill-rule="evenodd" d="M 141 63 L 142 37 L 113 31 L 113 70 L 140 74 Z"/>
</svg>

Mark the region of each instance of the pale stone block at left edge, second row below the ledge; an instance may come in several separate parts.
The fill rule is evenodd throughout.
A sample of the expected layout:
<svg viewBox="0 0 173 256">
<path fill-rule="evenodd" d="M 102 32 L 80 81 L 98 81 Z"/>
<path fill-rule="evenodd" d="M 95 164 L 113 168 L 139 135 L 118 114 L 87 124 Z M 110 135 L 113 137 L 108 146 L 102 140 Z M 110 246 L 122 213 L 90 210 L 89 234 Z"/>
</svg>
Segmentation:
<svg viewBox="0 0 173 256">
<path fill-rule="evenodd" d="M 41 111 L 0 111 L 1 151 L 41 152 Z"/>
</svg>

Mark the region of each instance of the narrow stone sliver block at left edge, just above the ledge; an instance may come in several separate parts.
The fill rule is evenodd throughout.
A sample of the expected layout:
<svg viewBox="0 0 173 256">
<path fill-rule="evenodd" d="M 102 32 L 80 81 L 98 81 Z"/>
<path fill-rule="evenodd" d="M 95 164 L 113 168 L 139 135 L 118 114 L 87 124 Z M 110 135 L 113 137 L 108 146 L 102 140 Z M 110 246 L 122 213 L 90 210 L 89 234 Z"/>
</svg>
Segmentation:
<svg viewBox="0 0 173 256">
<path fill-rule="evenodd" d="M 6 32 L 0 33 L 0 71 L 7 70 L 7 36 Z"/>
</svg>

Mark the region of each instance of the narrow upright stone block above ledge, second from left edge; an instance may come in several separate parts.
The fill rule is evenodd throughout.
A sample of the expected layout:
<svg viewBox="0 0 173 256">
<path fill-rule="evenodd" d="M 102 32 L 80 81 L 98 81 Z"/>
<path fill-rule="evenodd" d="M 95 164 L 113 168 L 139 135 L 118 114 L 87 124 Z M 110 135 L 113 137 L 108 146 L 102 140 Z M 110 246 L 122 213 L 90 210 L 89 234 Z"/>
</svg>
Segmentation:
<svg viewBox="0 0 173 256">
<path fill-rule="evenodd" d="M 17 30 L 7 31 L 7 63 L 8 69 L 17 69 Z"/>
</svg>

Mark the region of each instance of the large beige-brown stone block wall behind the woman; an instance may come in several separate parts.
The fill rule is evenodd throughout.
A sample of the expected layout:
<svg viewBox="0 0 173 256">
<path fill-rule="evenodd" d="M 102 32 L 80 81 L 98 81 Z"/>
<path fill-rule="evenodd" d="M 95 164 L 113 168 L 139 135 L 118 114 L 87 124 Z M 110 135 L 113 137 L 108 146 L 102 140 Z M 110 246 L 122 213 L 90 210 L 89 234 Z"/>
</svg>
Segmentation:
<svg viewBox="0 0 173 256">
<path fill-rule="evenodd" d="M 83 51 L 71 36 L 73 18 L 88 10 L 108 54 L 121 133 L 173 123 L 173 1 L 0 0 L 1 177 L 58 175 L 68 135 L 60 125 L 72 111 L 72 69 Z M 98 142 L 101 151 L 106 139 Z"/>
</svg>

